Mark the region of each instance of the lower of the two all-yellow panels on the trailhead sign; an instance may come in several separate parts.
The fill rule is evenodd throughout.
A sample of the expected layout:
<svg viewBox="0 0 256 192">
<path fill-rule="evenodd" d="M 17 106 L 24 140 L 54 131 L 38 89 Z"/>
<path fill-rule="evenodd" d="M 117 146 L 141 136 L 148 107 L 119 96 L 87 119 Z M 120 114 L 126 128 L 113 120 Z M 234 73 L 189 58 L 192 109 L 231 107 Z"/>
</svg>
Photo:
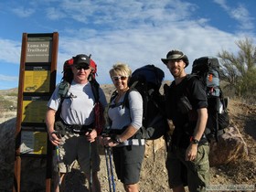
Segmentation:
<svg viewBox="0 0 256 192">
<path fill-rule="evenodd" d="M 47 102 L 41 97 L 25 97 L 22 108 L 23 123 L 45 123 Z"/>
</svg>

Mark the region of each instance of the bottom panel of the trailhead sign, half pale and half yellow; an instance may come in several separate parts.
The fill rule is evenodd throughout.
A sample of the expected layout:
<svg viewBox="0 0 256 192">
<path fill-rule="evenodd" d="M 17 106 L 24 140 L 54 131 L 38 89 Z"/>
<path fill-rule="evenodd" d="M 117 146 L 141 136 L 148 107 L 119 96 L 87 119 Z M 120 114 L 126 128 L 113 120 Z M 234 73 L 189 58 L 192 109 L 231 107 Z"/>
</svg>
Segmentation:
<svg viewBox="0 0 256 192">
<path fill-rule="evenodd" d="M 21 132 L 21 154 L 46 155 L 47 145 L 47 132 Z"/>
</svg>

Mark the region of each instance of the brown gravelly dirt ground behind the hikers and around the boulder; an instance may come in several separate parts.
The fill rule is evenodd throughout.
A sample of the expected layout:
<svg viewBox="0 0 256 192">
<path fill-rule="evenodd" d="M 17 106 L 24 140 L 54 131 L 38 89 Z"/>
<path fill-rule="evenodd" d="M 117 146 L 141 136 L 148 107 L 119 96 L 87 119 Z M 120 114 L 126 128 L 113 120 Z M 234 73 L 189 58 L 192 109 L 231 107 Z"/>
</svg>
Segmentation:
<svg viewBox="0 0 256 192">
<path fill-rule="evenodd" d="M 229 113 L 231 124 L 236 125 L 248 147 L 246 159 L 240 159 L 229 165 L 211 167 L 211 179 L 209 191 L 255 191 L 256 187 L 256 106 L 249 106 L 240 101 L 229 101 Z M 147 146 L 152 147 L 152 146 Z M 101 171 L 99 173 L 101 181 L 101 191 L 109 191 L 106 160 L 101 153 Z M 165 147 L 155 153 L 155 156 L 144 158 L 140 179 L 141 192 L 167 192 L 172 191 L 167 184 L 167 173 L 165 170 Z M 75 165 L 76 166 L 76 165 Z M 77 176 L 80 176 L 80 179 Z M 114 175 L 115 176 L 115 175 Z M 75 185 L 78 180 L 84 178 L 79 174 L 77 167 L 69 177 L 70 189 L 67 191 L 82 192 L 87 191 L 86 187 Z M 123 192 L 123 185 L 115 176 L 115 191 Z M 215 190 L 213 190 L 215 187 Z M 253 189 L 254 188 L 254 189 Z"/>
</svg>

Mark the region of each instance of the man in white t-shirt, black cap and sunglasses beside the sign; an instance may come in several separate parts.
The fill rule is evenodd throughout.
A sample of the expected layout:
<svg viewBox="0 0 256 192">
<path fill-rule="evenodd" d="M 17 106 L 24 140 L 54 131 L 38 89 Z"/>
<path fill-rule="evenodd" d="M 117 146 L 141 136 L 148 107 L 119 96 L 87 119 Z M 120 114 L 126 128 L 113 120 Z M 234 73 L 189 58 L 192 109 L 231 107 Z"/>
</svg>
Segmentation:
<svg viewBox="0 0 256 192">
<path fill-rule="evenodd" d="M 97 172 L 100 170 L 100 156 L 97 149 L 97 131 L 94 127 L 95 115 L 93 110 L 95 97 L 92 92 L 92 84 L 88 80 L 91 72 L 95 70 L 93 68 L 95 66 L 91 65 L 91 59 L 83 54 L 69 59 L 69 66 L 73 80 L 70 83 L 68 94 L 61 101 L 59 87 L 57 87 L 48 101 L 46 114 L 49 140 L 55 146 L 59 146 L 60 182 L 59 185 L 56 185 L 56 191 L 64 190 L 64 176 L 69 172 L 70 165 L 77 160 L 81 171 L 84 172 L 88 180 L 90 180 L 90 169 L 92 168 L 92 191 L 99 192 L 101 186 Z M 101 88 L 99 88 L 99 99 L 103 107 L 107 106 Z M 61 137 L 54 127 L 55 115 L 60 104 L 60 119 L 65 127 L 65 135 Z M 90 158 L 92 159 L 92 167 Z"/>
</svg>

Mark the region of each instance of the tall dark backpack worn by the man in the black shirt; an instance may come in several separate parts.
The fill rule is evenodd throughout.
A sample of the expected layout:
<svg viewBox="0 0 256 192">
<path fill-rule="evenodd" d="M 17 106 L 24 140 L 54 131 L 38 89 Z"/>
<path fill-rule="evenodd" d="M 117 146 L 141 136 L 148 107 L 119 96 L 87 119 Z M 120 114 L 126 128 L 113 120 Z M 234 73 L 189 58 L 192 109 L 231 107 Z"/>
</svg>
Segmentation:
<svg viewBox="0 0 256 192">
<path fill-rule="evenodd" d="M 224 98 L 219 86 L 219 60 L 213 57 L 195 59 L 192 75 L 203 82 L 208 96 L 208 123 L 206 135 L 208 140 L 218 141 L 219 134 L 229 126 L 228 99 Z"/>
</svg>

